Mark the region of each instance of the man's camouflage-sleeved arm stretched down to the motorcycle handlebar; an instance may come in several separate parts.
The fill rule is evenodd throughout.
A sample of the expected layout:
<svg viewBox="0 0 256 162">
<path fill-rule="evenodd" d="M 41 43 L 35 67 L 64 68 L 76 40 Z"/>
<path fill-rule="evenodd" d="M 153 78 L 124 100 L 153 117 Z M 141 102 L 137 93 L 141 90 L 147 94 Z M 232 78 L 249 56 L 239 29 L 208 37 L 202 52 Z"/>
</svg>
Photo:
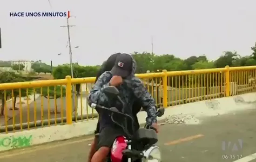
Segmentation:
<svg viewBox="0 0 256 162">
<path fill-rule="evenodd" d="M 148 113 L 146 122 L 148 125 L 156 123 L 156 104 L 154 98 L 143 86 L 142 81 L 139 78 L 132 78 L 132 88 L 134 90 L 135 97 L 141 100 L 143 109 Z"/>
</svg>

